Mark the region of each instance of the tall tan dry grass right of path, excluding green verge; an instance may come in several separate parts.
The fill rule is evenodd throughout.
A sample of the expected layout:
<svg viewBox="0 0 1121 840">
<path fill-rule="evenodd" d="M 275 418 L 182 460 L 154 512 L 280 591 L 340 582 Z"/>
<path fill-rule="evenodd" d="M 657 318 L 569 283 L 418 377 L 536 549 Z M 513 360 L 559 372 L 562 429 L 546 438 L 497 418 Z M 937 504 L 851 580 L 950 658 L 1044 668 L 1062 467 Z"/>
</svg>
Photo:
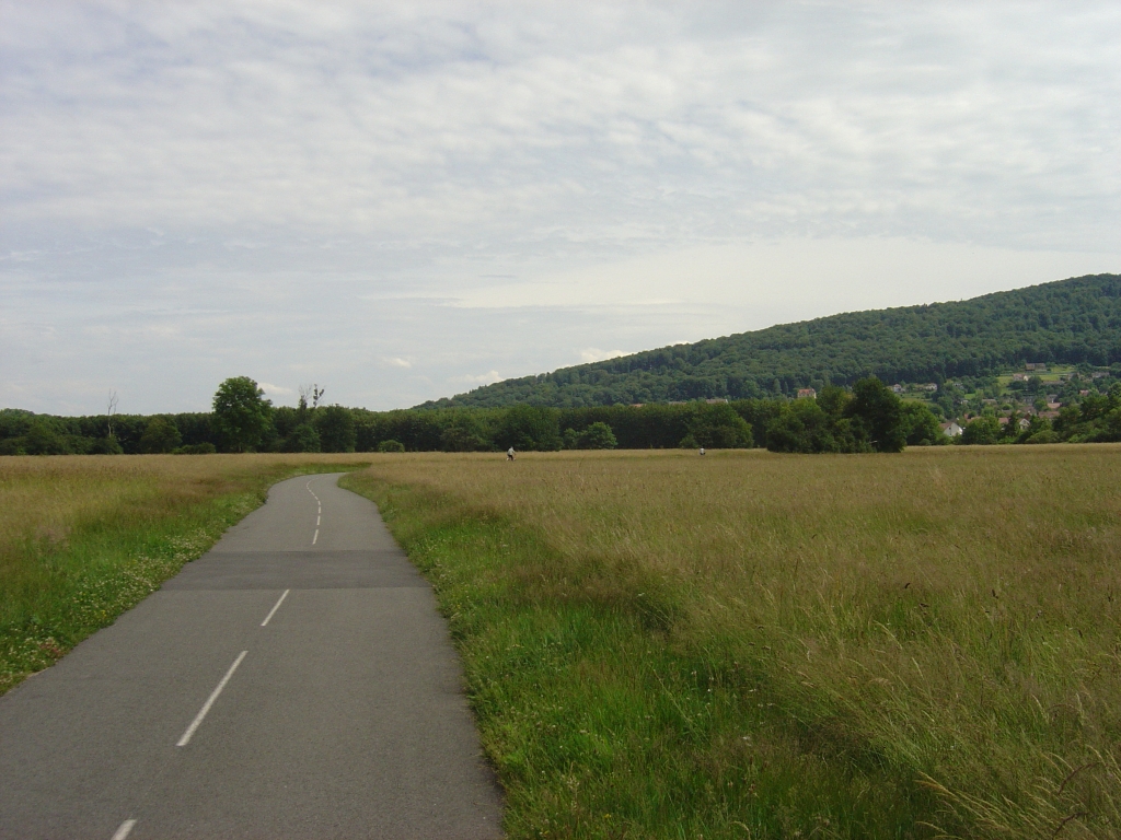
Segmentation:
<svg viewBox="0 0 1121 840">
<path fill-rule="evenodd" d="M 1121 837 L 1121 448 L 416 455 L 349 480 L 536 534 L 498 609 L 617 608 L 705 663 L 684 690 L 740 709 L 704 736 L 713 778 L 756 760 L 740 715 L 925 791 L 917 834 Z"/>
</svg>

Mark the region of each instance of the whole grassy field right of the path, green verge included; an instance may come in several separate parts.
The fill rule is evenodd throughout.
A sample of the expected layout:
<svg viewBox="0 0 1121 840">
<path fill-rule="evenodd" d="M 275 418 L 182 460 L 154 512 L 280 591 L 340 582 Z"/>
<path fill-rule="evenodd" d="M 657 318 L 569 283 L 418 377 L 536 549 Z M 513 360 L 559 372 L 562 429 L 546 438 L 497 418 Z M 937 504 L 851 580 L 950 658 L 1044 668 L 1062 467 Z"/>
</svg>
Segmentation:
<svg viewBox="0 0 1121 840">
<path fill-rule="evenodd" d="M 1121 837 L 1118 447 L 372 459 L 511 837 Z"/>
</svg>

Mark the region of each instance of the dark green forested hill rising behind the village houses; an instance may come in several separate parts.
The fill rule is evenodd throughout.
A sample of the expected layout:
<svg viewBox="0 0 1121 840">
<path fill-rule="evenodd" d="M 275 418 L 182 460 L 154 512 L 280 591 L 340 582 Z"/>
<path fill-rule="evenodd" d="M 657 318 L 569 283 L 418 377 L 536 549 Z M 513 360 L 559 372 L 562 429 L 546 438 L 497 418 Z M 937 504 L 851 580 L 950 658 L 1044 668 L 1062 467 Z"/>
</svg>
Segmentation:
<svg viewBox="0 0 1121 840">
<path fill-rule="evenodd" d="M 417 408 L 575 408 L 793 395 L 799 388 L 941 382 L 1025 362 L 1121 362 L 1121 276 L 1095 274 L 949 304 L 845 312 L 504 380 Z"/>
</svg>

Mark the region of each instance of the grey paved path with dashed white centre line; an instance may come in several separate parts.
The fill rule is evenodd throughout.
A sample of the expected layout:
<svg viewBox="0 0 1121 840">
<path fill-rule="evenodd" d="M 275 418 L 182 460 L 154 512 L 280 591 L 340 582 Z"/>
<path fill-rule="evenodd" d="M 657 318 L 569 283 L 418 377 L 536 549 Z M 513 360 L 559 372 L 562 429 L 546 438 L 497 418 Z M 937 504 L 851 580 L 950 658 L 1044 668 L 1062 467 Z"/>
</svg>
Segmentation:
<svg viewBox="0 0 1121 840">
<path fill-rule="evenodd" d="M 0 838 L 501 836 L 432 590 L 336 480 L 0 698 Z"/>
</svg>

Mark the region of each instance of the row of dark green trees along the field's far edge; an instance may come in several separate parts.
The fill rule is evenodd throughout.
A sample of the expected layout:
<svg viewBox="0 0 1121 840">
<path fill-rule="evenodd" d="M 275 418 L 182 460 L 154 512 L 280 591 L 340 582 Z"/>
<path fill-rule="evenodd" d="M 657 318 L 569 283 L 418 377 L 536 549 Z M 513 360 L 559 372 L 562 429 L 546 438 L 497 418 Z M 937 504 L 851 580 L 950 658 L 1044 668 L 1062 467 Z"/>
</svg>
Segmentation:
<svg viewBox="0 0 1121 840">
<path fill-rule="evenodd" d="M 766 448 L 776 452 L 898 452 L 949 444 L 935 414 L 874 377 L 830 385 L 815 399 L 693 401 L 555 409 L 274 407 L 257 383 L 221 384 L 210 413 L 52 417 L 0 411 L 0 455 L 287 451 L 555 451 L 559 449 Z M 1062 409 L 1054 420 L 974 419 L 963 444 L 1121 440 L 1121 384 Z"/>
</svg>

